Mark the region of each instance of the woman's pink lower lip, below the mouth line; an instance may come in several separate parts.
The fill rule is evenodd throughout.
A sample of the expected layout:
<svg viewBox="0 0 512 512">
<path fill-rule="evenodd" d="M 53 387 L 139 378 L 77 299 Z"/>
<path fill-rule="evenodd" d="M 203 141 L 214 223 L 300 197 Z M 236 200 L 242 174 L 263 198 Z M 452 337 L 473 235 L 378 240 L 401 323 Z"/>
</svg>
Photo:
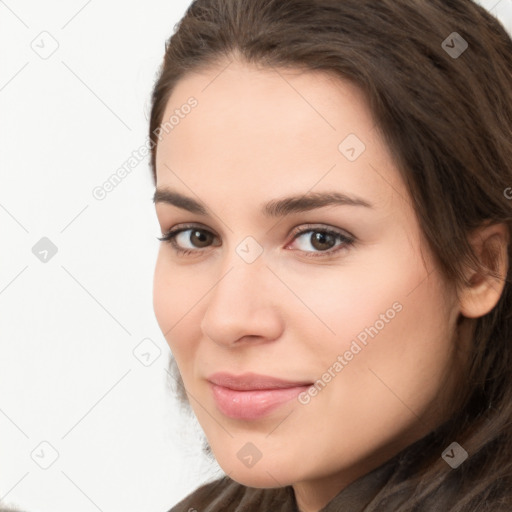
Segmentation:
<svg viewBox="0 0 512 512">
<path fill-rule="evenodd" d="M 311 384 L 293 388 L 252 391 L 235 391 L 211 382 L 210 386 L 215 403 L 225 416 L 238 420 L 256 420 L 293 400 L 297 395 L 309 389 Z"/>
</svg>

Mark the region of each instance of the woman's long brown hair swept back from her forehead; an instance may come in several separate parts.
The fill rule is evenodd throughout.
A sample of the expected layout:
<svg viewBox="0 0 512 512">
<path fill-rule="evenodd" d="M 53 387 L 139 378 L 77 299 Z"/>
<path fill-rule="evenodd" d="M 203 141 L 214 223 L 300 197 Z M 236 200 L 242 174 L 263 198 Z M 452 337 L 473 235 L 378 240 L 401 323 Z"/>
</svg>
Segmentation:
<svg viewBox="0 0 512 512">
<path fill-rule="evenodd" d="M 450 51 L 453 38 L 459 49 L 467 43 L 462 54 Z M 356 84 L 446 282 L 467 286 L 466 265 L 499 277 L 493 254 L 482 266 L 468 241 L 484 223 L 512 225 L 512 40 L 484 8 L 471 0 L 194 1 L 166 43 L 153 91 L 155 184 L 157 128 L 176 83 L 235 55 Z M 443 512 L 512 510 L 511 271 L 492 311 L 462 319 L 474 335 L 452 417 L 400 453 L 371 510 L 391 510 L 388 498 L 402 493 L 407 501 L 393 512 L 447 497 Z M 469 453 L 457 470 L 441 458 L 454 441 Z"/>
</svg>

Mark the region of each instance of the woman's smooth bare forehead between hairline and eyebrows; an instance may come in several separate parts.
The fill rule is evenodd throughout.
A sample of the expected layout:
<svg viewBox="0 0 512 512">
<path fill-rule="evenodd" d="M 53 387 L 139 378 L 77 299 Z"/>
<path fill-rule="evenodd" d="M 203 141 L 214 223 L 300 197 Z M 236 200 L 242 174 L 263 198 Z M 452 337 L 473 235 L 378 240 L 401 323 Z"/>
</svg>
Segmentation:
<svg viewBox="0 0 512 512">
<path fill-rule="evenodd" d="M 372 203 L 405 194 L 363 93 L 330 74 L 227 61 L 178 82 L 163 122 L 177 113 L 157 147 L 158 186 L 185 192 L 182 177 L 208 194 L 267 196 L 335 186 Z"/>
</svg>

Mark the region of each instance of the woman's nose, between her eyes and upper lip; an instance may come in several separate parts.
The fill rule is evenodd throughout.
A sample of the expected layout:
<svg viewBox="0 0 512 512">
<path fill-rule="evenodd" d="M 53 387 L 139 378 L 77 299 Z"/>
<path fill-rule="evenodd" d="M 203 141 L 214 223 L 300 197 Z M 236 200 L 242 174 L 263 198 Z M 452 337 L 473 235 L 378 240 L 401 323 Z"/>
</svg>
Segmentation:
<svg viewBox="0 0 512 512">
<path fill-rule="evenodd" d="M 234 261 L 205 299 L 201 330 L 219 345 L 267 342 L 282 333 L 275 277 L 263 261 Z"/>
</svg>

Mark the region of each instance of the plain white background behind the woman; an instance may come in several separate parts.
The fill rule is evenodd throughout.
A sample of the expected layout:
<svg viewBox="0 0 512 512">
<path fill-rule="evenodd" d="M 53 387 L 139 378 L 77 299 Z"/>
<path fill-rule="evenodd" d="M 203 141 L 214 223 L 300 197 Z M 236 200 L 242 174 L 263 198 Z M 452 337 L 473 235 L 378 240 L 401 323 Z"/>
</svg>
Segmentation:
<svg viewBox="0 0 512 512">
<path fill-rule="evenodd" d="M 512 33 L 512 0 L 481 3 Z M 148 158 L 92 194 L 146 142 L 188 4 L 0 0 L 2 504 L 166 512 L 221 474 L 168 388 Z M 43 237 L 57 247 L 47 262 L 32 252 Z"/>
</svg>

